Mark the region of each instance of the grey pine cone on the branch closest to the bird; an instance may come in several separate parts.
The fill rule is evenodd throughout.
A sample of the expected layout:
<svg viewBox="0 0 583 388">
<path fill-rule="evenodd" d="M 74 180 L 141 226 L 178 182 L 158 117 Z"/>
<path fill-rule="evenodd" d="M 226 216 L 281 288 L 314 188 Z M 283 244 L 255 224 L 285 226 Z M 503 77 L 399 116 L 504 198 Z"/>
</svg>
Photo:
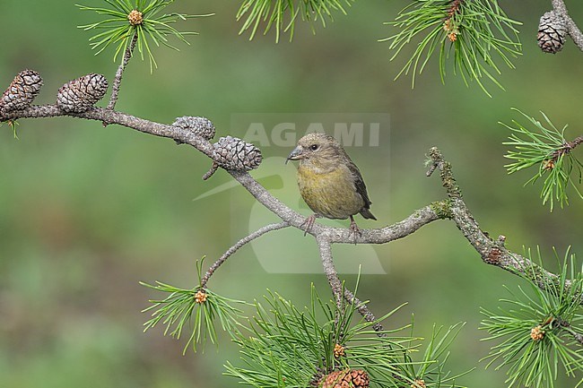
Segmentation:
<svg viewBox="0 0 583 388">
<path fill-rule="evenodd" d="M 213 144 L 213 160 L 222 168 L 248 171 L 259 167 L 261 151 L 237 137 L 222 137 Z"/>
</svg>

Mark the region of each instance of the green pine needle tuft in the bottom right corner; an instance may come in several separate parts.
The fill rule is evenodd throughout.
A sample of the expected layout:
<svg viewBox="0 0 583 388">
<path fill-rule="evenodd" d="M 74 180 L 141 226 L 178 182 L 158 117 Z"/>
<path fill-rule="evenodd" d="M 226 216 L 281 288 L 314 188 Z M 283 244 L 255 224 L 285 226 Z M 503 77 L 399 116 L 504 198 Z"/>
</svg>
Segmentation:
<svg viewBox="0 0 583 388">
<path fill-rule="evenodd" d="M 579 379 L 578 386 L 583 383 L 583 345 L 577 341 L 583 338 L 583 272 L 569 249 L 562 262 L 558 276 L 535 276 L 540 284 L 524 275 L 528 289 L 509 291 L 512 297 L 500 300 L 508 307 L 499 307 L 497 314 L 482 310 L 487 316 L 482 329 L 490 334 L 484 340 L 500 341 L 484 359 L 490 360 L 487 366 L 508 369 L 509 387 L 553 387 L 561 369 Z M 526 273 L 539 272 L 532 267 Z"/>
</svg>

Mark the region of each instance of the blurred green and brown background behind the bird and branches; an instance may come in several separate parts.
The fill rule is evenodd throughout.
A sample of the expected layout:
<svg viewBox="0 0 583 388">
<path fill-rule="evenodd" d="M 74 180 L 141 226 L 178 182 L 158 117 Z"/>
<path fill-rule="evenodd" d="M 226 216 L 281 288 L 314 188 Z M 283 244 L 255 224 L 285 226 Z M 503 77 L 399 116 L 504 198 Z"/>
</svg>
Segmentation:
<svg viewBox="0 0 583 388">
<path fill-rule="evenodd" d="M 581 19 L 583 5 L 571 3 L 572 16 Z M 556 56 L 544 55 L 535 44 L 538 18 L 550 2 L 501 2 L 511 17 L 524 22 L 524 56 L 515 61 L 515 70 L 503 69 L 500 82 L 506 91 L 492 86 L 492 98 L 452 74 L 442 85 L 435 63 L 418 77 L 414 90 L 408 78 L 393 81 L 405 56 L 389 62 L 387 43 L 377 40 L 394 32 L 383 22 L 393 20 L 404 1 L 357 2 L 326 29 L 317 26 L 315 35 L 299 24 L 294 41 L 284 38 L 279 44 L 273 34 L 251 42 L 248 35 L 239 36 L 238 4 L 172 5 L 174 11 L 216 15 L 181 22 L 182 30 L 201 35 L 190 37 L 190 46 L 178 44 L 180 52 L 155 49 L 159 69 L 153 74 L 135 58 L 117 108 L 162 123 L 177 116 L 207 116 L 219 135 L 234 136 L 246 132 L 231 125 L 238 113 L 388 113 L 390 163 L 379 163 L 366 147 L 350 150 L 367 179 L 380 223 L 401 220 L 443 198 L 437 177 L 424 176 L 424 155 L 437 145 L 454 164 L 476 220 L 492 236 L 504 234 L 517 251 L 540 245 L 552 269 L 553 246 L 561 253 L 567 246 L 580 252 L 582 202 L 572 197 L 568 208 L 549 213 L 538 199 L 538 187 L 522 187 L 528 173 L 509 177 L 503 167 L 501 142 L 508 131 L 498 122 L 518 118 L 511 107 L 531 115 L 544 110 L 555 125 L 570 124 L 572 137 L 580 134 L 581 54 L 571 42 Z M 113 78 L 117 64 L 111 51 L 93 56 L 90 33 L 75 27 L 96 16 L 79 11 L 74 2 L 3 0 L 0 15 L 2 84 L 24 68 L 35 69 L 44 79 L 37 102 L 51 103 L 64 82 L 80 75 Z M 8 125 L 0 128 L 0 385 L 237 386 L 222 375 L 225 361 L 239 357 L 229 341 L 218 350 L 211 346 L 182 356 L 185 339 L 163 337 L 160 328 L 143 332 L 147 315 L 140 311 L 149 298 L 160 296 L 138 281 L 194 287 L 196 259 L 206 255 L 211 261 L 244 235 L 253 205 L 249 195 L 235 186 L 193 201 L 231 178 L 219 171 L 203 182 L 209 160 L 168 139 L 68 117 L 19 124 L 19 140 Z M 290 149 L 263 151 L 267 157 L 285 157 Z M 271 169 L 265 173 L 262 168 Z M 262 168 L 253 175 L 278 174 L 276 166 Z M 293 198 L 289 204 L 308 214 L 300 206 L 291 166 L 281 165 L 279 178 L 266 179 L 265 185 Z M 298 230 L 275 233 L 289 236 L 291 243 L 268 235 L 257 245 L 274 257 L 297 250 L 318 263 L 309 237 L 300 239 Z M 305 244 L 298 247 L 298 241 Z M 346 252 L 359 260 L 359 247 L 335 247 L 338 255 Z M 503 372 L 484 370 L 478 361 L 490 345 L 479 341 L 485 335 L 478 330 L 479 308 L 494 308 L 508 296 L 502 285 L 516 286 L 518 280 L 484 265 L 448 221 L 375 246 L 374 252 L 387 273 L 361 279 L 360 296 L 370 299 L 372 311 L 381 315 L 408 302 L 387 326 L 406 323 L 414 313 L 422 336 L 433 323 L 466 322 L 450 367 L 458 372 L 477 366 L 460 382 L 471 387 L 504 386 Z M 353 284 L 355 277 L 345 279 Z M 301 306 L 309 300 L 311 282 L 326 292 L 319 273 L 265 272 L 247 246 L 210 286 L 247 300 L 274 289 Z"/>
</svg>

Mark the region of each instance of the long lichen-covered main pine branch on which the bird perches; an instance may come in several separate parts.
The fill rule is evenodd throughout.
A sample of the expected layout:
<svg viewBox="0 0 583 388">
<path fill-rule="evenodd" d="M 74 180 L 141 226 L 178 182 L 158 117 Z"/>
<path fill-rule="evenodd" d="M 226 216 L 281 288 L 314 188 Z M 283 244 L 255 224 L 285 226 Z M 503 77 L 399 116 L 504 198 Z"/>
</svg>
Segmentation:
<svg viewBox="0 0 583 388">
<path fill-rule="evenodd" d="M 53 116 L 74 116 L 126 126 L 145 134 L 167 137 L 177 142 L 191 145 L 196 150 L 203 152 L 207 157 L 213 158 L 213 144 L 192 131 L 104 108 L 91 108 L 83 113 L 71 113 L 57 108 L 56 105 L 35 105 L 19 111 L 4 113 L 4 116 L 0 116 L 0 121 Z M 461 197 L 461 190 L 453 177 L 451 165 L 443 158 L 437 148 L 431 149 L 430 160 L 430 165 L 433 166 L 432 169 L 439 169 L 440 171 L 441 181 L 448 194 L 448 200 L 428 205 L 413 212 L 405 220 L 396 222 L 393 225 L 384 228 L 362 229 L 362 235 L 356 238 L 356 243 L 385 244 L 398 238 L 406 237 L 434 220 L 451 219 L 474 246 L 484 263 L 496 265 L 509 272 L 523 272 L 524 268 L 529 266 L 529 260 L 520 254 L 507 250 L 504 247 L 503 238 L 496 241 L 483 232 Z M 257 202 L 262 203 L 265 208 L 273 211 L 281 220 L 294 228 L 299 228 L 303 233 L 302 225 L 306 220 L 305 217 L 275 198 L 248 172 L 239 170 L 227 170 L 227 172 L 245 187 L 249 194 L 257 199 Z M 314 223 L 309 234 L 319 238 L 320 244 L 323 245 L 327 243 L 354 244 L 355 242 L 348 228 L 331 228 Z M 537 277 L 538 280 L 556 278 L 555 275 L 551 272 L 546 272 L 543 268 L 538 268 L 537 266 L 534 266 L 534 268 L 537 268 L 537 271 L 532 276 Z M 544 287 L 544 283 L 540 283 L 540 285 Z M 581 302 L 583 303 L 583 298 Z"/>
</svg>

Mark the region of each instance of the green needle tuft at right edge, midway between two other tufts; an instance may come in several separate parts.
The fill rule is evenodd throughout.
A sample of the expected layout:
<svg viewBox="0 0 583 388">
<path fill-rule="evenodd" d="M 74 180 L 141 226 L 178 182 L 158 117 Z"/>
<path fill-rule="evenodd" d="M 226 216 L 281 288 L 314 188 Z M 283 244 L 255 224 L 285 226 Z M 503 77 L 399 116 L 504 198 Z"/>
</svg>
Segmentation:
<svg viewBox="0 0 583 388">
<path fill-rule="evenodd" d="M 530 128 L 515 120 L 512 120 L 512 125 L 500 123 L 512 132 L 509 135 L 509 142 L 503 142 L 514 147 L 514 150 L 504 155 L 505 158 L 513 160 L 512 163 L 505 165 L 509 174 L 537 166 L 538 171 L 525 185 L 534 185 L 539 178 L 544 177 L 541 198 L 543 204 L 550 204 L 551 211 L 555 202 L 558 202 L 561 208 L 564 204 L 569 204 L 568 186 L 583 199 L 578 187 L 583 176 L 583 164 L 570 152 L 569 142 L 564 136 L 567 125 L 559 130 L 543 112 L 541 114 L 544 117 L 544 124 L 518 109 L 514 110 L 526 118 Z"/>
</svg>

